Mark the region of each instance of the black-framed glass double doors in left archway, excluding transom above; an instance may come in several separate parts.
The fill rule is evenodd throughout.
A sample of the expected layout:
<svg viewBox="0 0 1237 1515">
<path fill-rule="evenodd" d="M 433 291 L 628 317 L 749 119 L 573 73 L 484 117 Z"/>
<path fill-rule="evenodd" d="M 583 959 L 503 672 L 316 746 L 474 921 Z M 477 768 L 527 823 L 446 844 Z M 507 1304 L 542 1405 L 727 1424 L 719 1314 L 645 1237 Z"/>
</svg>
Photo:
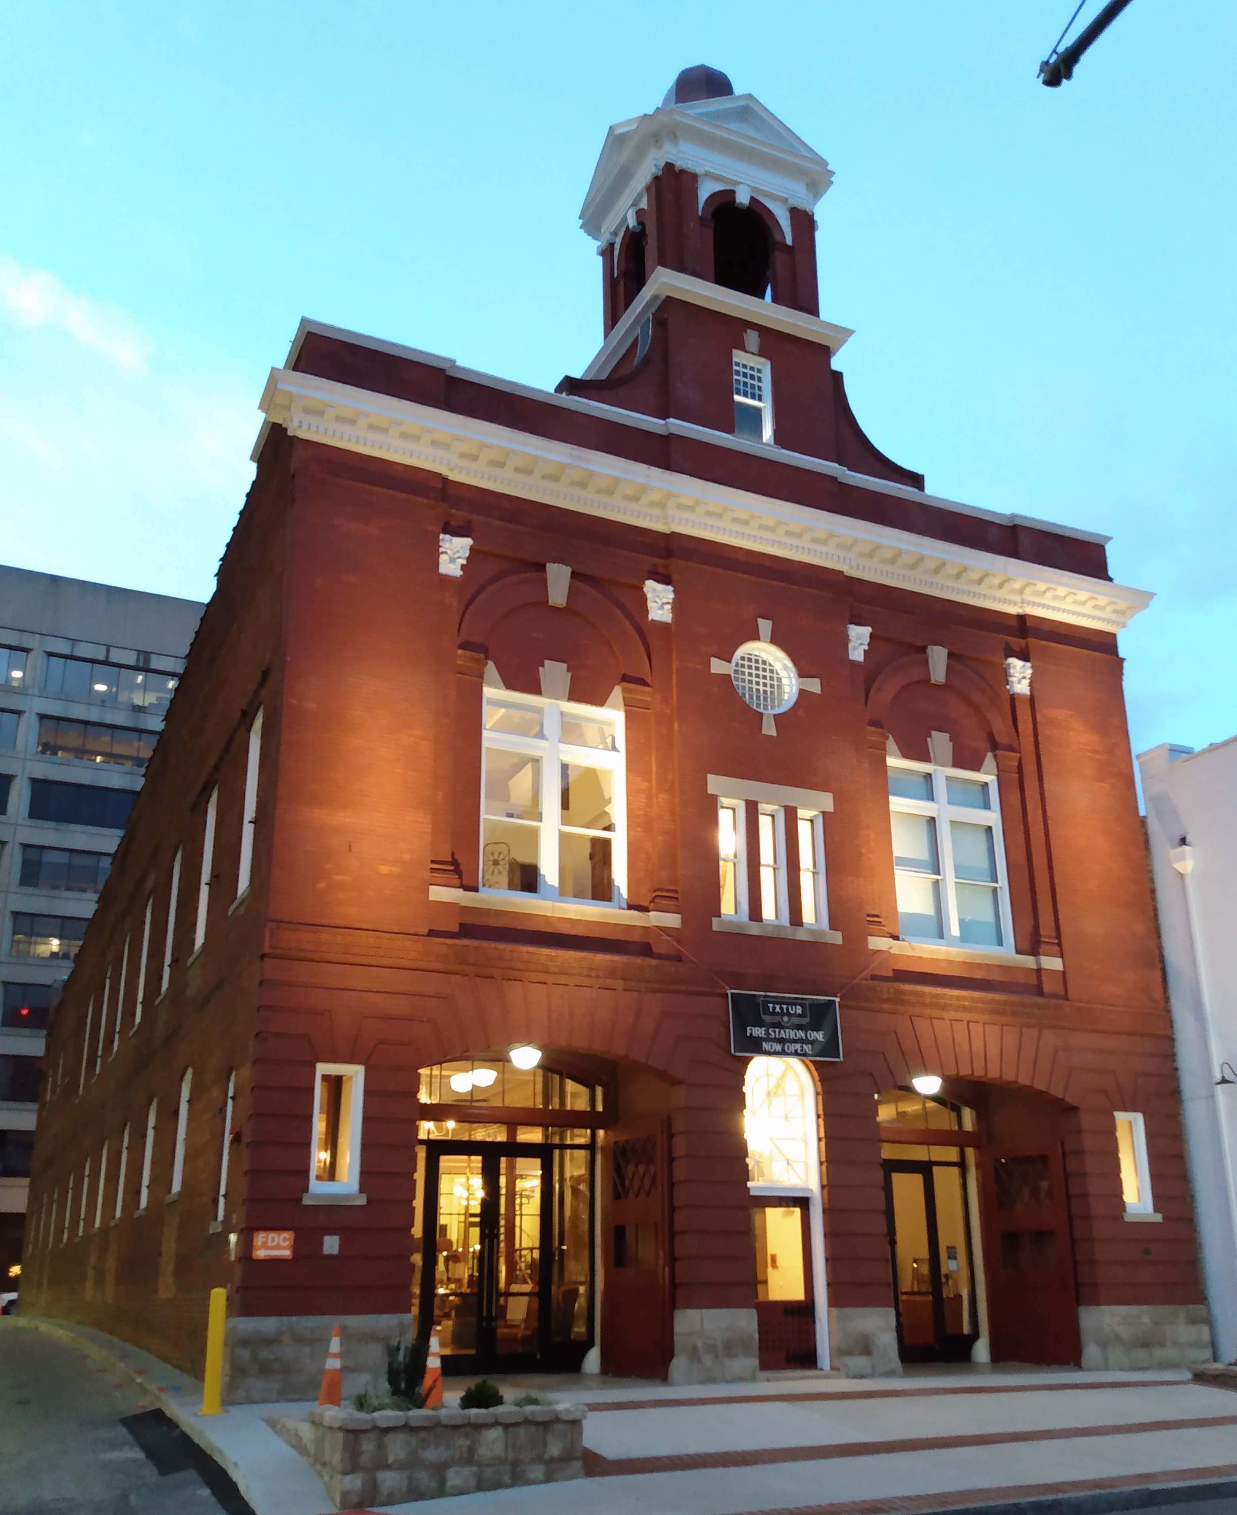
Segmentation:
<svg viewBox="0 0 1237 1515">
<path fill-rule="evenodd" d="M 581 1195 L 580 1176 L 557 1171 L 572 1156 L 531 1142 L 425 1145 L 421 1320 L 433 1320 L 444 1373 L 580 1367 L 592 1267 L 575 1215 L 587 1185 Z"/>
</svg>

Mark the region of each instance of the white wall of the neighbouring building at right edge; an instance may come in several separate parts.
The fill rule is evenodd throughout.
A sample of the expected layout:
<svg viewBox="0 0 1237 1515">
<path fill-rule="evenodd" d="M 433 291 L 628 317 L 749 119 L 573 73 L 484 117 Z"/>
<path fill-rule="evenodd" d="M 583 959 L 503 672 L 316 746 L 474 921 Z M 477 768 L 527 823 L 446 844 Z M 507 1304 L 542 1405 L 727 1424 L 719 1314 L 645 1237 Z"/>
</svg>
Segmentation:
<svg viewBox="0 0 1237 1515">
<path fill-rule="evenodd" d="M 1237 738 L 1139 756 L 1216 1357 L 1237 1359 Z"/>
</svg>

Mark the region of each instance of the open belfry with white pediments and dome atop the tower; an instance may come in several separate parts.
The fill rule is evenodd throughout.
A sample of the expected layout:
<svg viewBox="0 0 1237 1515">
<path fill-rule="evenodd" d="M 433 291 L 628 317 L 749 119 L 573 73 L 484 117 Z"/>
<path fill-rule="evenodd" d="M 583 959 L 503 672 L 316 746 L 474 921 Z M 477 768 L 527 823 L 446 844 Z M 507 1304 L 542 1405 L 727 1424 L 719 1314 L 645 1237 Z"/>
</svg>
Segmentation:
<svg viewBox="0 0 1237 1515">
<path fill-rule="evenodd" d="M 828 164 L 706 64 L 657 111 L 612 126 L 580 224 L 603 258 L 609 336 L 657 268 L 819 315 L 816 221 Z"/>
</svg>

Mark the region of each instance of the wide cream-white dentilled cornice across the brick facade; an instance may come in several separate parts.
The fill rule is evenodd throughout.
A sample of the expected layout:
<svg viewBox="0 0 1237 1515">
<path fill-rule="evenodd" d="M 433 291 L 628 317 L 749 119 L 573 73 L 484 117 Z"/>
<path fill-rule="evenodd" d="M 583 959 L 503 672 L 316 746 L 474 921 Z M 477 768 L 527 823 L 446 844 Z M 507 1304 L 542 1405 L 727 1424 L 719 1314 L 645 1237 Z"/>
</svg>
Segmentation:
<svg viewBox="0 0 1237 1515">
<path fill-rule="evenodd" d="M 813 564 L 915 594 L 1120 630 L 1151 595 L 1104 579 L 731 489 L 613 453 L 276 368 L 266 420 L 292 436 L 651 532 Z"/>
</svg>

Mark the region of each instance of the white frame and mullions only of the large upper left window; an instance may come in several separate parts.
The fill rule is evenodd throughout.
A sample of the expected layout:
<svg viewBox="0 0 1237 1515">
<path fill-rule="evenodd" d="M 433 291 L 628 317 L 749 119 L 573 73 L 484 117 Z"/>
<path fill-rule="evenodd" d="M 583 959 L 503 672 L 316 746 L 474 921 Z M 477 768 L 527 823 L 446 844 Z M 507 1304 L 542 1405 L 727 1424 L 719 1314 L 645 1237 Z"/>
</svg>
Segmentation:
<svg viewBox="0 0 1237 1515">
<path fill-rule="evenodd" d="M 541 736 L 516 736 L 512 732 L 491 730 L 481 715 L 481 803 L 480 803 L 480 856 L 485 856 L 486 845 L 486 756 L 491 751 L 521 753 L 541 761 L 541 821 L 516 821 L 518 826 L 537 827 L 537 892 L 524 889 L 494 889 L 481 885 L 480 892 L 498 898 L 516 900 L 569 900 L 572 904 L 598 909 L 627 907 L 627 732 L 624 712 L 609 706 L 577 704 L 572 700 L 545 700 L 531 694 L 515 694 L 509 689 L 486 692 L 486 704 L 519 704 L 530 711 L 539 711 L 542 718 Z M 604 720 L 613 727 L 615 748 L 575 747 L 562 741 L 563 712 L 581 720 Z M 615 829 L 612 832 L 592 832 L 577 826 L 562 824 L 562 764 L 574 762 L 583 768 L 607 768 L 613 776 L 612 809 Z M 498 820 L 498 817 L 491 817 Z M 612 891 L 609 900 L 581 900 L 577 895 L 559 891 L 559 833 L 571 832 L 577 836 L 607 836 L 610 839 L 610 880 Z"/>
</svg>

